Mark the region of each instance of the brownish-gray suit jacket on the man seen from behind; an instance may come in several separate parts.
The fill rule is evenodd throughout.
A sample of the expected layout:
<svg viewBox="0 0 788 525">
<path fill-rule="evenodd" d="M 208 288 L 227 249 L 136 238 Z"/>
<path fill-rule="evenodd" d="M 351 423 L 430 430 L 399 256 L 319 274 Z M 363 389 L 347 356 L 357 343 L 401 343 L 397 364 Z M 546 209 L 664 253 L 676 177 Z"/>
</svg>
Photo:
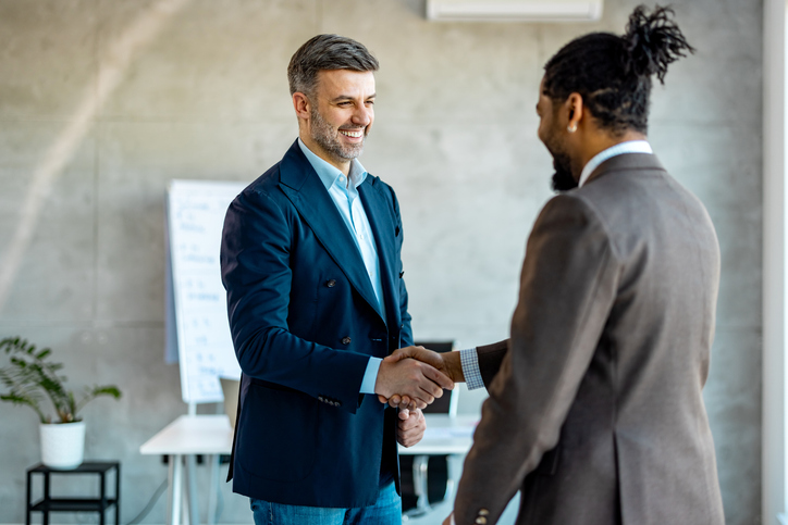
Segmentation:
<svg viewBox="0 0 788 525">
<path fill-rule="evenodd" d="M 508 351 L 479 349 L 457 525 L 495 523 L 518 489 L 518 524 L 724 524 L 701 396 L 718 282 L 709 214 L 654 155 L 547 202 Z"/>
</svg>

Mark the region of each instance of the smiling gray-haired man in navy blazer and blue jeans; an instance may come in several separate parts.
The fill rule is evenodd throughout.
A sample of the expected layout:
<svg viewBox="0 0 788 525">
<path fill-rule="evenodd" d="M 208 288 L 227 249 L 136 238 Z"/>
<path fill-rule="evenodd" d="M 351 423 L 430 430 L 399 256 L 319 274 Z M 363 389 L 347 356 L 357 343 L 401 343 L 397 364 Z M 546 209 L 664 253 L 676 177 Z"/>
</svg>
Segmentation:
<svg viewBox="0 0 788 525">
<path fill-rule="evenodd" d="M 222 282 L 243 371 L 229 479 L 255 522 L 401 523 L 397 441 L 423 436 L 374 395 L 423 408 L 453 383 L 382 361 L 413 345 L 394 190 L 357 158 L 378 61 L 319 35 L 287 75 L 298 139 L 227 210 Z"/>
</svg>

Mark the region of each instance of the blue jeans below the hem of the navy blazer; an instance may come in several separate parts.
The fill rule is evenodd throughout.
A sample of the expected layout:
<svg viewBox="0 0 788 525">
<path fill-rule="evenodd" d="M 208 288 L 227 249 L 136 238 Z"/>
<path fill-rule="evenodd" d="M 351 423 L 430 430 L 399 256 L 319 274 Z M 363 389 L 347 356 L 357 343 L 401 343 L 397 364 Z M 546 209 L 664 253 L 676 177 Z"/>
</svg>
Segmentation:
<svg viewBox="0 0 788 525">
<path fill-rule="evenodd" d="M 255 525 L 399 525 L 402 499 L 394 482 L 380 489 L 378 501 L 357 509 L 299 507 L 249 499 Z"/>
</svg>

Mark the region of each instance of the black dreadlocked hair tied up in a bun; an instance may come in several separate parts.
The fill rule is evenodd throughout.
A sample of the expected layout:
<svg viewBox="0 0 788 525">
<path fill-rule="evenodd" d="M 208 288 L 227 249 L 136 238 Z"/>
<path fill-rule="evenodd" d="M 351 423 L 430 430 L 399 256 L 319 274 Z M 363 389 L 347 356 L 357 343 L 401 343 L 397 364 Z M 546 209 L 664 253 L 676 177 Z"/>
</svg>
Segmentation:
<svg viewBox="0 0 788 525">
<path fill-rule="evenodd" d="M 614 135 L 647 133 L 651 77 L 665 83 L 667 66 L 694 49 L 672 20 L 673 9 L 639 5 L 623 36 L 591 33 L 564 46 L 544 66 L 544 92 L 564 102 L 582 97 L 601 127 Z"/>
</svg>

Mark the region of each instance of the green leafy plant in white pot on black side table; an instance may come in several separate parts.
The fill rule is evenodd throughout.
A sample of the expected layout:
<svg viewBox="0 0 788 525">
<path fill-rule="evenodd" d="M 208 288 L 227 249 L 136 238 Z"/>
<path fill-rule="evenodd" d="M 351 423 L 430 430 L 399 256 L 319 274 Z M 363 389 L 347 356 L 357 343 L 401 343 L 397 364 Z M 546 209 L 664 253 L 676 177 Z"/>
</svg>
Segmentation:
<svg viewBox="0 0 788 525">
<path fill-rule="evenodd" d="M 32 408 L 40 420 L 41 463 L 53 468 L 75 468 L 82 464 L 85 451 L 85 423 L 77 414 L 85 403 L 99 397 L 121 397 L 113 385 L 85 387 L 81 396 L 66 390 L 66 377 L 60 374 L 61 363 L 48 361 L 51 350 L 38 350 L 20 337 L 0 341 L 0 353 L 9 355 L 7 366 L 0 367 L 0 383 L 9 391 L 0 400 Z M 42 409 L 49 400 L 57 413 L 53 422 Z"/>
</svg>

